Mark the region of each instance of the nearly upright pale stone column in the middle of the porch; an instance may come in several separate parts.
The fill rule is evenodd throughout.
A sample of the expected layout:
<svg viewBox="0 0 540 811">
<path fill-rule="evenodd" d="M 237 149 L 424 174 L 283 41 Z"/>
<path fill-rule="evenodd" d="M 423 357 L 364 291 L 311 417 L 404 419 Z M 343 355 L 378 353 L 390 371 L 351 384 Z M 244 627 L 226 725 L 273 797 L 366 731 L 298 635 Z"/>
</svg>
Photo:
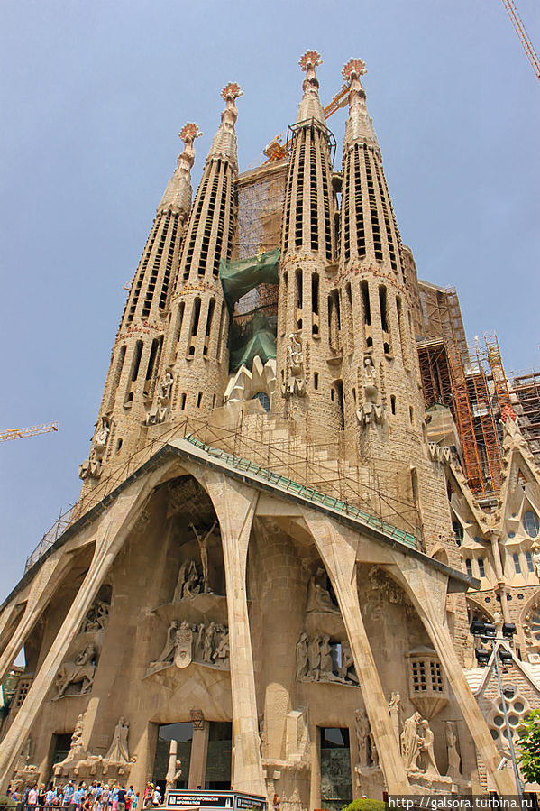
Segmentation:
<svg viewBox="0 0 540 811">
<path fill-rule="evenodd" d="M 248 544 L 259 494 L 222 474 L 208 472 L 205 484 L 219 520 L 224 552 L 233 698 L 232 782 L 239 791 L 265 797 L 245 579 Z"/>
</svg>

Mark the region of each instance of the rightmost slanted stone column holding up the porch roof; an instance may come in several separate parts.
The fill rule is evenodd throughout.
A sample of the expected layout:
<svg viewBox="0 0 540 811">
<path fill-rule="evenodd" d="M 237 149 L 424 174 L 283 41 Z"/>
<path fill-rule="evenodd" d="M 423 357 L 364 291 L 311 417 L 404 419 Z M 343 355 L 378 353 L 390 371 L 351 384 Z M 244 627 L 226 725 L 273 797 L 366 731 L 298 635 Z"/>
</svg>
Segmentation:
<svg viewBox="0 0 540 811">
<path fill-rule="evenodd" d="M 452 637 L 446 624 L 448 576 L 435 568 L 427 567 L 421 560 L 408 558 L 398 552 L 394 552 L 393 557 L 398 564 L 398 571 L 396 567 L 391 567 L 389 574 L 403 586 L 426 627 L 465 723 L 469 727 L 472 740 L 488 773 L 493 777 L 497 791 L 502 795 L 516 794 L 516 786 L 508 770 L 497 770 L 499 751 L 491 738 L 488 724 L 471 693 L 471 687 L 463 675 L 462 666 L 453 648 Z"/>
</svg>

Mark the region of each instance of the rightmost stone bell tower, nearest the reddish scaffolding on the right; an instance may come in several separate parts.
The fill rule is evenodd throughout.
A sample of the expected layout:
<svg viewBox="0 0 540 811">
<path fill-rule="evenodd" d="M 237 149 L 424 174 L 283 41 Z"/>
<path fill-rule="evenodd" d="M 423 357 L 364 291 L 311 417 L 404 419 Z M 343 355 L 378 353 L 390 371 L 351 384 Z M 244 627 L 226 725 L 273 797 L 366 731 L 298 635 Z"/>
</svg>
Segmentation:
<svg viewBox="0 0 540 811">
<path fill-rule="evenodd" d="M 425 404 L 411 316 L 403 246 L 366 108 L 362 60 L 343 67 L 349 116 L 343 141 L 343 196 L 337 286 L 342 306 L 346 444 L 371 465 L 380 491 L 406 496 L 416 515 L 407 526 L 445 539 L 457 561 L 440 465 L 429 457 Z M 429 496 L 426 493 L 429 491 Z M 405 508 L 403 508 L 405 509 Z"/>
</svg>

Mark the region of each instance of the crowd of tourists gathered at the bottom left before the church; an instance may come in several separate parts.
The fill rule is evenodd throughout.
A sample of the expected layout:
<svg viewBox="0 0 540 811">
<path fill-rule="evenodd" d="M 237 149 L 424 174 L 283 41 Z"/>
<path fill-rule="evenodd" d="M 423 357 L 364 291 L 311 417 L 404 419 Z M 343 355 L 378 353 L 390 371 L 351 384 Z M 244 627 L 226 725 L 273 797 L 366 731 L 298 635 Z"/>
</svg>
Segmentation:
<svg viewBox="0 0 540 811">
<path fill-rule="evenodd" d="M 125 788 L 120 783 L 111 784 L 94 781 L 84 781 L 74 784 L 72 780 L 65 785 L 53 785 L 49 788 L 44 783 L 41 786 L 26 788 L 23 793 L 16 790 L 7 791 L 17 804 L 17 811 L 23 808 L 58 807 L 63 806 L 69 811 L 139 811 L 141 809 L 141 794 L 133 786 Z M 142 808 L 161 805 L 160 787 L 147 783 L 142 795 Z"/>
</svg>

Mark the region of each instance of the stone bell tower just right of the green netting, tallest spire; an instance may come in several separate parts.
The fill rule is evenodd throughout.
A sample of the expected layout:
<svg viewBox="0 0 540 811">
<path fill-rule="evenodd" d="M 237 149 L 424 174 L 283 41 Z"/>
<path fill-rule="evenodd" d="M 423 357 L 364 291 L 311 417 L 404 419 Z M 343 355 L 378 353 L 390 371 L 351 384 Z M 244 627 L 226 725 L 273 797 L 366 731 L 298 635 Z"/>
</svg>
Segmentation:
<svg viewBox="0 0 540 811">
<path fill-rule="evenodd" d="M 336 198 L 332 185 L 333 136 L 325 125 L 316 78 L 317 51 L 299 64 L 304 97 L 292 129 L 281 225 L 277 339 L 277 410 L 342 428 L 339 307 L 335 274 Z"/>
</svg>

